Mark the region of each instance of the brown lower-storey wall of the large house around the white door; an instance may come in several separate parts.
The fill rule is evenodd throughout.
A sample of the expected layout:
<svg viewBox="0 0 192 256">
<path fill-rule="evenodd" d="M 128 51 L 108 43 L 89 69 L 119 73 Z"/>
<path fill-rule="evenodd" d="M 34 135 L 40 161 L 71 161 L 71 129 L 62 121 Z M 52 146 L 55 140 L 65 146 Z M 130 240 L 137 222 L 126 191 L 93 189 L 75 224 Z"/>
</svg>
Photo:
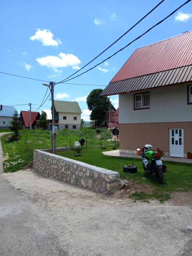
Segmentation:
<svg viewBox="0 0 192 256">
<path fill-rule="evenodd" d="M 169 153 L 169 129 L 183 128 L 184 154 L 192 152 L 192 122 L 119 124 L 120 151 L 132 150 L 150 144 Z"/>
</svg>

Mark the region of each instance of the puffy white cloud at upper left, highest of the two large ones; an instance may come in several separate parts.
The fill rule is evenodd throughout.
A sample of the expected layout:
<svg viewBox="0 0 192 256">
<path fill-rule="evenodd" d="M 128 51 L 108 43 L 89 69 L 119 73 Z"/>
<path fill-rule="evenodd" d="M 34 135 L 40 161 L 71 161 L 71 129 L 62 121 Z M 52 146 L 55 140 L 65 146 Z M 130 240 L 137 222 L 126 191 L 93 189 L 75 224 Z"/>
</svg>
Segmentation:
<svg viewBox="0 0 192 256">
<path fill-rule="evenodd" d="M 57 39 L 54 40 L 53 39 L 53 34 L 51 33 L 51 31 L 49 29 L 37 29 L 37 32 L 35 33 L 35 35 L 31 36 L 30 39 L 32 41 L 37 40 L 43 43 L 43 46 L 58 46 L 58 44 L 61 44 L 61 40 Z"/>
</svg>

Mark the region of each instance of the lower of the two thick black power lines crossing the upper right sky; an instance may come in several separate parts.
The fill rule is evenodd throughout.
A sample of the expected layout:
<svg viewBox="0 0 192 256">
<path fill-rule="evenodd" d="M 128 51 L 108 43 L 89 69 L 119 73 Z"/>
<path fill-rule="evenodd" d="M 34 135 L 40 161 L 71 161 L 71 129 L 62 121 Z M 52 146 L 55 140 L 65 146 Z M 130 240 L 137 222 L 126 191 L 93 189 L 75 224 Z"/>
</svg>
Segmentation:
<svg viewBox="0 0 192 256">
<path fill-rule="evenodd" d="M 184 5 L 186 5 L 187 3 L 191 2 L 191 0 L 186 1 L 184 4 L 182 4 L 181 6 L 179 6 L 177 9 L 175 9 L 172 13 L 170 13 L 167 17 L 165 17 L 164 19 L 162 19 L 161 21 L 159 21 L 158 23 L 156 23 L 154 26 L 152 26 L 151 28 L 149 28 L 147 31 L 145 31 L 143 34 L 141 34 L 140 36 L 138 36 L 137 38 L 135 38 L 133 41 L 131 41 L 129 44 L 127 44 L 126 46 L 124 46 L 123 48 L 121 48 L 120 50 L 118 50 L 117 52 L 115 52 L 114 54 L 112 54 L 110 57 L 106 58 L 105 60 L 103 60 L 102 62 L 98 63 L 97 65 L 95 65 L 94 67 L 88 69 L 87 71 L 81 73 L 80 75 L 77 75 L 75 77 L 72 77 L 68 80 L 62 80 L 61 82 L 65 81 L 70 81 L 76 77 L 79 77 L 85 73 L 87 73 L 88 71 L 92 70 L 93 68 L 99 66 L 100 64 L 102 64 L 103 62 L 105 62 L 106 60 L 110 59 L 111 57 L 113 57 L 114 55 L 116 55 L 117 53 L 119 53 L 120 51 L 124 50 L 126 47 L 128 47 L 130 44 L 132 44 L 133 42 L 135 42 L 136 40 L 138 40 L 139 38 L 141 38 L 142 36 L 144 36 L 145 34 L 147 34 L 151 29 L 153 29 L 154 27 L 156 27 L 157 25 L 159 25 L 160 23 L 162 23 L 164 20 L 166 20 L 167 18 L 169 18 L 171 15 L 173 15 L 176 11 L 178 11 L 181 7 L 183 7 Z M 67 78 L 66 78 L 67 79 Z M 56 83 L 57 84 L 57 83 Z"/>
</svg>

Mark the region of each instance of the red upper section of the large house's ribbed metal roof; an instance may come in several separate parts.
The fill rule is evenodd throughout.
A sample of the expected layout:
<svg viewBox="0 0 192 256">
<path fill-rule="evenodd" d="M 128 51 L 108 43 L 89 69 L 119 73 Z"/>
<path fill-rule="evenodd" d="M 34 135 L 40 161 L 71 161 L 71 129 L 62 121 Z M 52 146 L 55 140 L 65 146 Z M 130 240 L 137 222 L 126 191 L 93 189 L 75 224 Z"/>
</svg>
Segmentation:
<svg viewBox="0 0 192 256">
<path fill-rule="evenodd" d="M 192 31 L 135 50 L 110 83 L 192 64 Z"/>
</svg>

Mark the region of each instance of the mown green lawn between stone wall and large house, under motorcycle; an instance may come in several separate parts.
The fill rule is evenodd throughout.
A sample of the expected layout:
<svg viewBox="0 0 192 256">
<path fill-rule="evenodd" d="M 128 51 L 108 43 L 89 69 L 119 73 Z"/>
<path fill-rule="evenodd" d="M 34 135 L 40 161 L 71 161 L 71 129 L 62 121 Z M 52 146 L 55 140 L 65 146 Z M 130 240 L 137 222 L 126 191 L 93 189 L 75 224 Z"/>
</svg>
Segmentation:
<svg viewBox="0 0 192 256">
<path fill-rule="evenodd" d="M 98 167 L 106 168 L 120 173 L 121 179 L 133 180 L 141 186 L 140 192 L 135 192 L 130 195 L 134 200 L 145 200 L 155 198 L 163 202 L 170 198 L 170 194 L 176 191 L 192 190 L 192 164 L 166 162 L 167 173 L 164 174 L 163 184 L 158 184 L 153 180 L 153 176 L 147 176 L 142 167 L 142 159 L 105 156 L 102 151 L 109 151 L 110 147 L 105 150 L 101 148 L 83 149 L 81 157 L 75 157 L 74 151 L 58 152 L 71 159 L 75 159 Z M 137 173 L 124 173 L 123 166 L 134 163 L 137 166 Z M 145 187 L 152 188 L 152 193 L 142 191 Z"/>
</svg>

